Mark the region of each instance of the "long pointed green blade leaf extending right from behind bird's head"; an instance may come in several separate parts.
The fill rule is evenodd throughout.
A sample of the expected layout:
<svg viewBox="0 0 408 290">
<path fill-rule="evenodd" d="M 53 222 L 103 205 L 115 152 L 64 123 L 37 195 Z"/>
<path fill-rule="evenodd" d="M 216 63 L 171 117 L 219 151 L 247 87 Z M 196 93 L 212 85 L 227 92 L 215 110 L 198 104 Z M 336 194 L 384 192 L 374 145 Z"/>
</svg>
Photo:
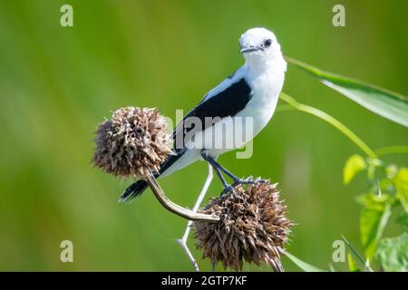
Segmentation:
<svg viewBox="0 0 408 290">
<path fill-rule="evenodd" d="M 408 98 L 406 96 L 385 90 L 373 84 L 322 71 L 313 65 L 296 59 L 288 57 L 286 59 L 288 63 L 292 63 L 311 73 L 326 86 L 359 103 L 365 109 L 408 127 Z"/>
</svg>

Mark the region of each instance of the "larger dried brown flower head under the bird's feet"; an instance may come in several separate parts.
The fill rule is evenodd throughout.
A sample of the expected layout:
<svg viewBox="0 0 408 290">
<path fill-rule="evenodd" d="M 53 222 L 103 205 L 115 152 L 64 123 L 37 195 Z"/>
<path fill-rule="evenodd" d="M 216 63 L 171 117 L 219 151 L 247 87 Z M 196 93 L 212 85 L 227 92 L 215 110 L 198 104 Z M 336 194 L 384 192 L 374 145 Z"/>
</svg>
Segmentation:
<svg viewBox="0 0 408 290">
<path fill-rule="evenodd" d="M 265 262 L 275 271 L 283 271 L 279 255 L 284 253 L 292 223 L 286 218 L 276 184 L 267 181 L 246 189 L 239 185 L 212 198 L 200 211 L 220 218 L 217 223 L 193 223 L 197 247 L 204 257 L 237 271 L 243 260 L 257 266 Z"/>
</svg>

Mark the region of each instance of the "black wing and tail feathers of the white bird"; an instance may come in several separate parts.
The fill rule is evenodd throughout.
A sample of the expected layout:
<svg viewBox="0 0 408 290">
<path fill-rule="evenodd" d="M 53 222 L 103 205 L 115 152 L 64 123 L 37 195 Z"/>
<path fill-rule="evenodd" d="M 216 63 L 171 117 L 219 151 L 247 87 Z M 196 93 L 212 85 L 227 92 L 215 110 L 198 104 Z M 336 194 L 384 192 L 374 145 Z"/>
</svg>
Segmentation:
<svg viewBox="0 0 408 290">
<path fill-rule="evenodd" d="M 169 169 L 174 162 L 180 159 L 185 152 L 185 147 L 177 145 L 178 140 L 184 141 L 186 134 L 191 131 L 203 131 L 209 126 L 212 126 L 216 120 L 228 116 L 235 116 L 238 111 L 242 111 L 252 98 L 251 88 L 245 78 L 239 79 L 238 82 L 232 83 L 224 91 L 219 92 L 209 98 L 204 98 L 199 104 L 183 118 L 183 121 L 173 131 L 174 154 L 169 155 L 160 165 L 160 172 Z M 196 123 L 188 124 L 190 117 L 199 118 L 201 127 L 196 128 L 189 125 L 197 125 Z M 214 122 L 206 121 L 207 118 L 212 118 Z M 180 134 L 180 135 L 179 135 Z M 177 146 L 176 146 L 177 145 Z M 155 176 L 160 176 L 160 172 L 155 172 Z M 121 200 L 127 201 L 138 197 L 147 188 L 144 180 L 139 180 L 126 189 L 121 195 Z"/>
</svg>

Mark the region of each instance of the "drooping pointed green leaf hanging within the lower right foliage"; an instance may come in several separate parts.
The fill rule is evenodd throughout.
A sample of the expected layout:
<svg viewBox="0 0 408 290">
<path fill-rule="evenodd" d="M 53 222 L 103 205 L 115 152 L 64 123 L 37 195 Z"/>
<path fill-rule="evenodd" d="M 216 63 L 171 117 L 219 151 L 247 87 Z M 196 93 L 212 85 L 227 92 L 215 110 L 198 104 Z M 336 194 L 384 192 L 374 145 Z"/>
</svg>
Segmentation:
<svg viewBox="0 0 408 290">
<path fill-rule="evenodd" d="M 360 217 L 360 236 L 364 247 L 365 256 L 373 261 L 378 241 L 383 236 L 384 227 L 391 215 L 391 206 L 364 208 Z"/>
</svg>

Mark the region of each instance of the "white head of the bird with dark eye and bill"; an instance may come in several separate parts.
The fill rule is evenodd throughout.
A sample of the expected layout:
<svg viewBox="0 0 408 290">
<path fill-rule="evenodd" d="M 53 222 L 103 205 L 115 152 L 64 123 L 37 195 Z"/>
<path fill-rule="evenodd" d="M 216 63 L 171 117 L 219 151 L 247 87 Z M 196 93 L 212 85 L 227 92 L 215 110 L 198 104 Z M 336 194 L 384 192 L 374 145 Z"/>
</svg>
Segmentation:
<svg viewBox="0 0 408 290">
<path fill-rule="evenodd" d="M 279 65 L 286 72 L 287 63 L 280 51 L 277 37 L 266 28 L 249 29 L 239 38 L 239 45 L 248 65 L 257 67 Z"/>
</svg>

